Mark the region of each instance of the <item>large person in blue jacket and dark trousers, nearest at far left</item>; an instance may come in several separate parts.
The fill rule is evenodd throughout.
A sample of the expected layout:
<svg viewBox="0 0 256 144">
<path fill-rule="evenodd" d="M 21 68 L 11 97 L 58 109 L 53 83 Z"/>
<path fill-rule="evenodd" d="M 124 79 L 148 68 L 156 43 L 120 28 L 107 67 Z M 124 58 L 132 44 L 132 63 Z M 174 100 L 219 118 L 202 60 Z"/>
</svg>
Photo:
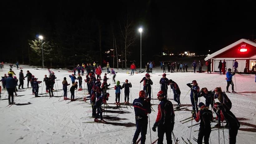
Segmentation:
<svg viewBox="0 0 256 144">
<path fill-rule="evenodd" d="M 9 77 L 6 78 L 6 89 L 7 89 L 7 92 L 8 92 L 8 102 L 9 102 L 9 105 L 10 104 L 14 104 L 13 92 L 15 90 L 15 80 L 12 78 L 12 74 L 9 74 Z"/>
</svg>

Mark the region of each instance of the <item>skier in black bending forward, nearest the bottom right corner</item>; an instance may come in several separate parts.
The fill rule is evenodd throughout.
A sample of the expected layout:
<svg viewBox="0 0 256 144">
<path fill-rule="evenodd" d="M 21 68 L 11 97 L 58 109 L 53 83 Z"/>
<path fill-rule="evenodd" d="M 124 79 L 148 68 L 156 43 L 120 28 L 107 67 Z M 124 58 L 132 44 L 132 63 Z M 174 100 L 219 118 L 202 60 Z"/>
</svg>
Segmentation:
<svg viewBox="0 0 256 144">
<path fill-rule="evenodd" d="M 229 143 L 233 144 L 236 143 L 236 136 L 240 127 L 240 122 L 230 110 L 226 110 L 224 105 L 225 104 L 223 103 L 217 102 L 214 104 L 214 108 L 216 114 L 220 116 L 219 119 L 223 122 L 225 118 L 226 122 L 229 123 Z"/>
</svg>

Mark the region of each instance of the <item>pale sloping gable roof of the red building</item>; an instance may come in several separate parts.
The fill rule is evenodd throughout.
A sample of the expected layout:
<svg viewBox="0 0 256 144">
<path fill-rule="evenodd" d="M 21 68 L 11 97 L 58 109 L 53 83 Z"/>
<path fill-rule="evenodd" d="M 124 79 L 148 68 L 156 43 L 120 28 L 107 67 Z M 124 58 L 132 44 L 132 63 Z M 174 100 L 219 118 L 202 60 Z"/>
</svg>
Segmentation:
<svg viewBox="0 0 256 144">
<path fill-rule="evenodd" d="M 243 42 L 248 43 L 248 44 L 256 47 L 256 43 L 255 42 L 250 41 L 250 40 L 246 40 L 246 39 L 241 39 L 239 41 L 234 42 L 233 44 L 231 44 L 229 46 L 224 47 L 223 49 L 220 49 L 220 50 L 210 54 L 209 56 L 207 56 L 205 58 L 205 60 L 211 59 L 211 58 L 215 57 L 216 55 L 219 55 L 219 54 L 223 53 L 224 51 L 227 51 L 227 50 L 233 48 L 234 46 L 236 46 L 236 45 L 238 45 L 240 43 L 243 43 Z"/>
</svg>

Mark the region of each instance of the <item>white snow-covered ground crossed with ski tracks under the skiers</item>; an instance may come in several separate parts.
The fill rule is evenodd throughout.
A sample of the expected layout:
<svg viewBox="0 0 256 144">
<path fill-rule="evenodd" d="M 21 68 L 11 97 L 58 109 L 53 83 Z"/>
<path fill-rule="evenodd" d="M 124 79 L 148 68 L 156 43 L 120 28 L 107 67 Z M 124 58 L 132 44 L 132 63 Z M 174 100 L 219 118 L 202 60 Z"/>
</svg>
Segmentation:
<svg viewBox="0 0 256 144">
<path fill-rule="evenodd" d="M 47 70 L 35 70 L 32 67 L 26 65 L 20 65 L 23 68 L 24 75 L 26 70 L 29 70 L 33 75 L 35 75 L 38 80 L 43 80 L 44 75 L 48 75 Z M 20 70 L 15 70 L 13 67 L 16 76 Z M 5 65 L 0 75 L 7 73 L 9 66 Z M 66 70 L 53 70 L 57 77 L 58 84 L 57 89 L 60 89 L 57 92 L 54 92 L 54 95 L 57 97 L 49 98 L 48 94 L 40 95 L 43 97 L 33 98 L 32 90 L 22 89 L 17 92 L 15 97 L 16 105 L 7 107 L 8 105 L 8 96 L 7 91 L 2 91 L 1 100 L 0 100 L 0 143 L 1 144 L 12 144 L 12 143 L 22 143 L 22 144 L 57 144 L 57 143 L 83 143 L 83 144 L 129 144 L 132 142 L 133 134 L 135 132 L 135 119 L 134 119 L 134 109 L 133 107 L 126 107 L 121 105 L 121 108 L 115 108 L 114 99 L 115 94 L 114 90 L 110 89 L 110 97 L 108 101 L 107 113 L 104 113 L 105 120 L 108 123 L 88 123 L 93 122 L 94 118 L 91 118 L 91 105 L 89 100 L 87 102 L 83 99 L 68 103 L 69 100 L 63 100 L 63 97 L 58 97 L 62 94 L 62 80 L 63 77 L 67 78 L 67 81 L 70 82 L 69 73 Z M 131 89 L 130 99 L 138 98 L 138 92 L 142 89 L 139 81 L 145 75 L 143 74 L 134 74 L 129 75 L 126 72 L 130 70 L 116 70 L 116 80 L 119 80 L 121 83 L 128 79 L 132 83 L 133 87 Z M 167 70 L 166 70 L 167 71 Z M 103 70 L 105 72 L 105 70 Z M 159 91 L 159 79 L 162 76 L 162 70 L 158 68 L 153 69 L 153 74 L 151 79 L 153 81 L 152 91 L 153 91 L 153 100 L 151 103 L 154 103 L 153 108 L 156 112 L 150 114 L 150 126 L 152 128 L 156 116 L 157 116 L 157 104 L 159 101 L 156 99 L 156 94 Z M 180 111 L 175 112 L 175 126 L 174 134 L 178 138 L 178 143 L 184 143 L 181 140 L 183 138 L 189 138 L 191 121 L 182 124 L 180 121 L 191 116 L 191 102 L 190 96 L 188 93 L 189 87 L 186 86 L 187 83 L 191 83 L 192 80 L 196 79 L 200 88 L 206 87 L 209 90 L 214 89 L 215 87 L 221 87 L 222 90 L 226 89 L 226 80 L 225 75 L 219 75 L 216 73 L 206 74 L 206 73 L 167 73 L 168 79 L 174 80 L 181 89 L 181 106 L 189 106 L 187 108 L 181 109 Z M 101 77 L 103 78 L 103 75 Z M 85 76 L 83 76 L 83 79 Z M 112 76 L 108 74 L 108 83 L 111 83 L 110 88 L 114 87 L 112 84 Z M 235 75 L 236 88 L 235 90 L 238 94 L 227 94 L 230 100 L 232 101 L 231 111 L 239 119 L 241 127 L 237 135 L 237 143 L 239 144 L 248 144 L 255 143 L 256 138 L 256 84 L 254 82 L 255 76 L 242 76 Z M 26 78 L 27 80 L 27 78 Z M 27 81 L 24 81 L 24 87 L 27 87 Z M 83 83 L 83 87 L 84 87 Z M 40 84 L 39 94 L 45 93 L 45 85 Z M 43 87 L 43 89 L 42 89 Z M 54 87 L 55 88 L 55 87 Z M 41 90 L 42 89 L 42 90 Z M 229 87 L 231 90 L 231 86 Z M 75 97 L 83 97 L 84 91 L 75 92 Z M 187 95 L 186 95 L 187 94 Z M 45 97 L 46 96 L 46 97 Z M 173 93 L 170 94 L 170 87 L 168 89 L 168 96 L 173 102 Z M 70 92 L 68 92 L 68 97 L 70 98 Z M 124 102 L 124 94 L 122 94 L 122 102 Z M 60 99 L 60 100 L 59 100 Z M 130 100 L 130 103 L 132 101 Z M 201 98 L 201 102 L 205 102 L 204 98 Z M 177 103 L 174 103 L 175 105 Z M 215 116 L 215 115 L 214 115 Z M 193 124 L 196 122 L 193 121 Z M 216 123 L 212 123 L 215 125 Z M 196 143 L 192 140 L 192 137 L 198 135 L 199 125 L 192 127 L 191 142 Z M 150 129 L 148 125 L 146 143 L 150 143 Z M 195 132 L 196 131 L 196 132 Z M 224 129 L 225 133 L 225 143 L 228 143 L 228 129 Z M 151 130 L 152 142 L 157 139 L 157 132 Z M 218 130 L 213 130 L 210 135 L 211 143 L 217 144 L 218 142 Z M 164 143 L 166 140 L 164 138 Z M 174 142 L 173 142 L 174 143 Z M 222 130 L 220 131 L 220 143 L 224 143 Z"/>
</svg>

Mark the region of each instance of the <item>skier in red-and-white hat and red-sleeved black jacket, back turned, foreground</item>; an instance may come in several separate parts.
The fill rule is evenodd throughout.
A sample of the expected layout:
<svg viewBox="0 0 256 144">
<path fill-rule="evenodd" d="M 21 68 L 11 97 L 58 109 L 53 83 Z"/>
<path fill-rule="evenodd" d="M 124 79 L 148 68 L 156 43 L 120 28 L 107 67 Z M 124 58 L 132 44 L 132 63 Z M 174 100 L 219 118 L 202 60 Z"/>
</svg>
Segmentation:
<svg viewBox="0 0 256 144">
<path fill-rule="evenodd" d="M 171 144 L 171 133 L 173 131 L 175 119 L 173 106 L 171 101 L 167 100 L 163 91 L 157 93 L 157 99 L 161 102 L 158 104 L 157 119 L 152 130 L 156 132 L 157 128 L 159 144 L 163 143 L 164 134 L 166 135 L 167 143 Z"/>
</svg>

